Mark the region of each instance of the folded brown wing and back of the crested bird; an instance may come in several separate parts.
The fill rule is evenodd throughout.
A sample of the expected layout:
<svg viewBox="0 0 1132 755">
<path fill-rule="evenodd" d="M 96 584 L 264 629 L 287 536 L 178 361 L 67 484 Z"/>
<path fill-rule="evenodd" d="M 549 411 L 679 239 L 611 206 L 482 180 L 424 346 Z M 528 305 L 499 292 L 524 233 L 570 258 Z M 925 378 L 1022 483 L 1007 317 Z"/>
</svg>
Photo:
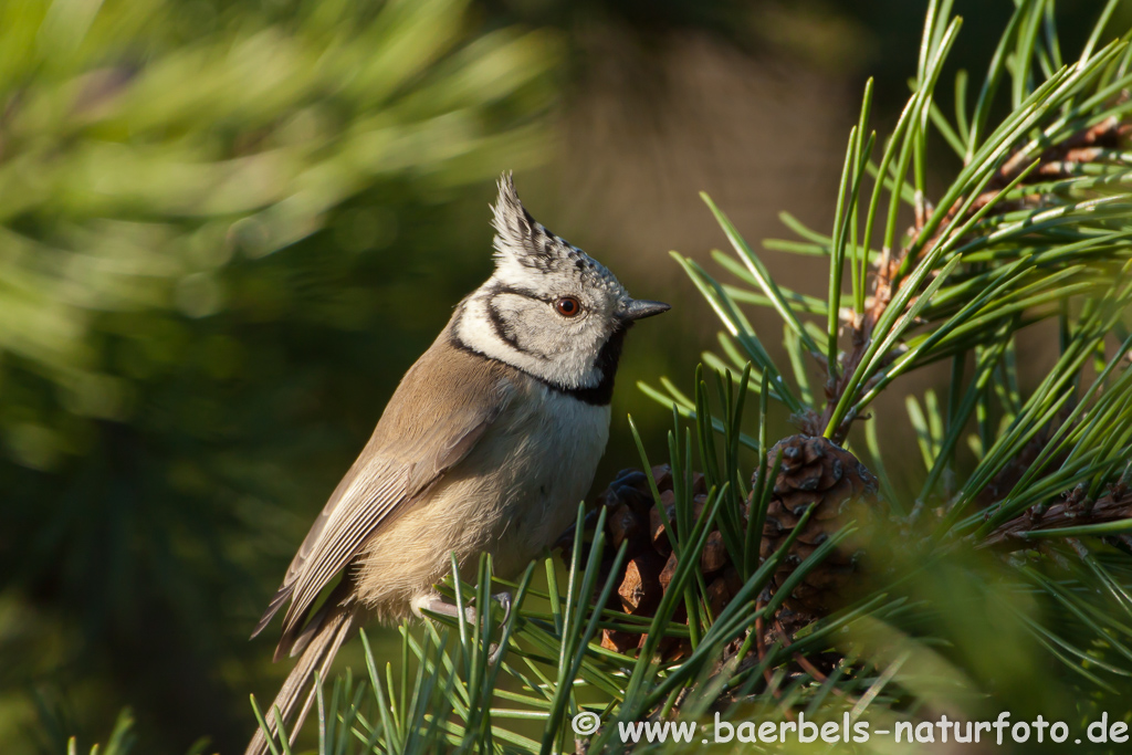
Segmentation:
<svg viewBox="0 0 1132 755">
<path fill-rule="evenodd" d="M 402 378 L 369 443 L 299 547 L 252 637 L 290 599 L 280 643 L 280 651 L 286 651 L 318 594 L 362 544 L 483 436 L 511 398 L 509 372 L 451 345 L 447 331 L 437 338 Z"/>
</svg>

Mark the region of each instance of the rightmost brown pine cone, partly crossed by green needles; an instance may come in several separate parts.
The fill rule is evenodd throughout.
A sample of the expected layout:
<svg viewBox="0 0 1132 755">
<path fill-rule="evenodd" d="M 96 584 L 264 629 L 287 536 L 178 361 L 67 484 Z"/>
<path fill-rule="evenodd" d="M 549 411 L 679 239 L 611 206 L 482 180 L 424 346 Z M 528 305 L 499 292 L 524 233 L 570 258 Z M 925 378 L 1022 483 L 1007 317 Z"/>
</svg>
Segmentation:
<svg viewBox="0 0 1132 755">
<path fill-rule="evenodd" d="M 844 524 L 865 524 L 877 504 L 876 478 L 857 457 L 823 437 L 795 435 L 777 443 L 766 454 L 767 467 L 779 452 L 782 463 L 766 508 L 760 556 L 774 554 L 798 526 L 812 506 L 805 529 L 771 577 L 769 594 Z M 752 478 L 752 500 L 758 472 Z M 857 569 L 858 541 L 843 541 L 805 576 L 777 615 L 775 623 L 788 637 L 803 626 L 827 615 L 840 602 Z M 772 633 L 773 634 L 773 633 Z"/>
</svg>

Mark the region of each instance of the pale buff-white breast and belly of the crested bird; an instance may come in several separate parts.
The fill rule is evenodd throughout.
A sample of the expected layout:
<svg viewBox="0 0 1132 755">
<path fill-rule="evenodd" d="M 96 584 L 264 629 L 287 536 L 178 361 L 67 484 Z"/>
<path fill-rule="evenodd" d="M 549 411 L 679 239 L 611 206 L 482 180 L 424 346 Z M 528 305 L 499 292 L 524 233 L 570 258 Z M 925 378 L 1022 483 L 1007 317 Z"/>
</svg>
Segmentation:
<svg viewBox="0 0 1132 755">
<path fill-rule="evenodd" d="M 482 552 L 518 575 L 577 515 L 609 437 L 594 406 L 517 374 L 507 409 L 423 499 L 367 542 L 358 594 L 384 620 L 409 615 L 451 570 L 474 581 Z"/>
</svg>

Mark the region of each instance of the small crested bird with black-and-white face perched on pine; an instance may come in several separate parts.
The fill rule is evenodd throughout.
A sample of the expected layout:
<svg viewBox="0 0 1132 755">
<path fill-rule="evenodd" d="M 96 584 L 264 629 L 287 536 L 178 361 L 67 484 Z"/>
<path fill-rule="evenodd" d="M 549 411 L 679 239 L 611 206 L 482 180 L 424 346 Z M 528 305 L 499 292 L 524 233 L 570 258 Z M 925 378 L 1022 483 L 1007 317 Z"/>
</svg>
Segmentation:
<svg viewBox="0 0 1132 755">
<path fill-rule="evenodd" d="M 435 585 L 453 557 L 473 572 L 490 554 L 507 578 L 561 535 L 604 453 L 625 335 L 670 309 L 633 299 L 604 265 L 537 222 L 509 172 L 491 224 L 491 276 L 405 372 L 251 634 L 290 601 L 275 660 L 299 660 L 268 710 L 278 707 L 292 740 L 315 672 L 326 677 L 359 626 L 452 616 Z M 257 730 L 246 755 L 266 749 Z"/>
</svg>

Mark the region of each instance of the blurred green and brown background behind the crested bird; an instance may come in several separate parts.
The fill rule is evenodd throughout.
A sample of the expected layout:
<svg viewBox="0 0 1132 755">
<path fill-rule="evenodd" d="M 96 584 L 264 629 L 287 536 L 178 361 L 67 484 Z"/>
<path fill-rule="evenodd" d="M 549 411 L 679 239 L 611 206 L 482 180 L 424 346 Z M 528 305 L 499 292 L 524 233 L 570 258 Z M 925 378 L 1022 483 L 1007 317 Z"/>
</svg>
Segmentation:
<svg viewBox="0 0 1132 755">
<path fill-rule="evenodd" d="M 0 749 L 88 746 L 126 705 L 139 752 L 242 749 L 286 672 L 247 636 L 490 274 L 503 170 L 676 306 L 629 338 L 595 484 L 637 462 L 626 413 L 661 447 L 634 384 L 687 385 L 717 331 L 667 256 L 722 242 L 696 192 L 753 240 L 825 223 L 860 84 L 891 119 L 923 5 L 0 3 Z M 981 69 L 1011 3 L 957 6 Z M 824 263 L 769 258 L 821 292 Z"/>
</svg>

